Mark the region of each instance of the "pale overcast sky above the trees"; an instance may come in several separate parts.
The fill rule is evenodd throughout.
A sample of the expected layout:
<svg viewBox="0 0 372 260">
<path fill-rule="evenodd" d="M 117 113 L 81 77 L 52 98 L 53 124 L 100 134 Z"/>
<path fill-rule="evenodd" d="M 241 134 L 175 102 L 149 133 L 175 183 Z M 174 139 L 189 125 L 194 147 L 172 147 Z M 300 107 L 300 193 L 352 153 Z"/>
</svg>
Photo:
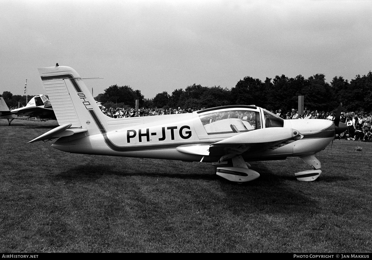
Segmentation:
<svg viewBox="0 0 372 260">
<path fill-rule="evenodd" d="M 372 1 L 0 0 L 0 93 L 45 94 L 37 68 L 73 67 L 93 95 L 145 98 L 245 76 L 352 80 L 372 70 Z"/>
</svg>

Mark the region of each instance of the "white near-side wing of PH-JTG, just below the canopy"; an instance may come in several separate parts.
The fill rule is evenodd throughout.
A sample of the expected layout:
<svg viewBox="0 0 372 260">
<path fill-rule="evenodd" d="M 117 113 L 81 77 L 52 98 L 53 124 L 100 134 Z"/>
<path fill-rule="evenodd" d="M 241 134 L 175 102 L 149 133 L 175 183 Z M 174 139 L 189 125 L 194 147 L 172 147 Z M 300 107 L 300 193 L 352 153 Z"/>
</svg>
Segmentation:
<svg viewBox="0 0 372 260">
<path fill-rule="evenodd" d="M 297 136 L 300 136 L 300 133 L 292 128 L 269 127 L 241 133 L 217 143 L 213 143 L 212 145 L 262 145 L 283 142 Z"/>
</svg>

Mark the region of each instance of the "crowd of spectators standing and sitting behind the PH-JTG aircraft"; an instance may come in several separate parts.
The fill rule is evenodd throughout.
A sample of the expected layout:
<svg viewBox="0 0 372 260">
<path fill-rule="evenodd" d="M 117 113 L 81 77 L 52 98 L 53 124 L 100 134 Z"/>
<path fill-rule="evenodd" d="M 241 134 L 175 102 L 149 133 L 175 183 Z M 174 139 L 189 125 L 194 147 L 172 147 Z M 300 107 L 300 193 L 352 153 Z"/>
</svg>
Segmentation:
<svg viewBox="0 0 372 260">
<path fill-rule="evenodd" d="M 109 117 L 123 118 L 123 117 L 135 117 L 136 112 L 133 108 L 106 108 L 100 107 L 102 112 Z M 204 108 L 202 108 L 204 109 Z M 141 108 L 138 111 L 139 116 L 151 116 L 151 115 L 169 115 L 169 114 L 182 114 L 191 113 L 194 110 L 191 108 Z M 299 115 L 298 111 L 292 109 L 287 113 L 283 113 L 282 110 L 272 111 L 274 114 L 282 117 L 283 119 L 326 119 L 334 121 L 336 113 L 325 112 L 325 111 L 310 111 L 305 108 L 304 114 Z M 336 135 L 336 139 L 346 140 L 359 140 L 363 142 L 372 142 L 371 126 L 372 126 L 372 113 L 366 112 L 341 112 L 340 122 L 346 124 L 347 130 L 340 135 Z"/>
</svg>

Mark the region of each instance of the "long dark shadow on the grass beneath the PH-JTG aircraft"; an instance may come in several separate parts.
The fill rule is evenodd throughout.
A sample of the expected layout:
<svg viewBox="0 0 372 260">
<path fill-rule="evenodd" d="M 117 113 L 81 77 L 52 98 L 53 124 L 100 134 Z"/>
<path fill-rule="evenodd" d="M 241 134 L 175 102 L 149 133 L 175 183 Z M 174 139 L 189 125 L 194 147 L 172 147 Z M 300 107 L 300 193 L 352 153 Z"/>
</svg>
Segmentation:
<svg viewBox="0 0 372 260">
<path fill-rule="evenodd" d="M 72 167 L 68 171 L 60 172 L 55 175 L 55 178 L 70 183 L 83 181 L 93 183 L 107 175 L 115 175 L 119 179 L 122 177 L 123 182 L 127 181 L 125 180 L 126 177 L 141 177 L 142 180 L 138 180 L 138 185 L 147 183 L 144 185 L 154 186 L 153 188 L 156 188 L 156 184 L 151 184 L 152 181 L 159 178 L 163 179 L 161 183 L 164 186 L 168 185 L 170 190 L 173 190 L 173 186 L 177 185 L 187 187 L 174 192 L 195 196 L 194 202 L 205 204 L 206 207 L 209 207 L 208 205 L 211 203 L 222 203 L 221 207 L 229 209 L 231 213 L 236 215 L 257 211 L 284 214 L 297 212 L 308 215 L 318 212 L 317 203 L 310 198 L 311 194 L 301 190 L 301 185 L 308 186 L 306 183 L 297 181 L 294 175 L 274 174 L 261 162 L 254 165 L 254 169 L 261 174 L 260 178 L 243 184 L 233 183 L 215 175 L 212 166 L 199 166 L 198 164 L 192 165 L 174 161 L 163 162 L 165 162 L 163 167 L 155 165 L 151 169 L 146 167 L 130 168 L 128 167 L 129 164 L 124 164 L 121 168 L 117 168 L 115 165 L 108 167 L 108 165 L 102 164 L 80 165 Z M 174 164 L 181 167 L 174 171 Z M 166 165 L 171 167 L 166 167 Z M 144 177 L 147 178 L 146 181 L 144 181 Z M 118 179 L 116 181 L 120 182 Z M 114 185 L 113 181 L 112 183 Z M 225 194 L 223 201 L 216 202 L 213 199 L 215 189 L 221 190 Z"/>
</svg>

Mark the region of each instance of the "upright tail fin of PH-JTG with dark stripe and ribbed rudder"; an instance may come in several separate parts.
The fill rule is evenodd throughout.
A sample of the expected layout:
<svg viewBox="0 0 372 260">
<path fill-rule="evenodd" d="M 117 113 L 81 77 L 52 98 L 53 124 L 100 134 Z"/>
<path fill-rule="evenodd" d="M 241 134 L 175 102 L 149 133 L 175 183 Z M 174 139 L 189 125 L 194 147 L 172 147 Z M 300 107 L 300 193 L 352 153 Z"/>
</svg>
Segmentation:
<svg viewBox="0 0 372 260">
<path fill-rule="evenodd" d="M 107 116 L 73 68 L 55 66 L 38 70 L 60 126 L 84 128 L 87 135 L 106 131 Z"/>
</svg>

